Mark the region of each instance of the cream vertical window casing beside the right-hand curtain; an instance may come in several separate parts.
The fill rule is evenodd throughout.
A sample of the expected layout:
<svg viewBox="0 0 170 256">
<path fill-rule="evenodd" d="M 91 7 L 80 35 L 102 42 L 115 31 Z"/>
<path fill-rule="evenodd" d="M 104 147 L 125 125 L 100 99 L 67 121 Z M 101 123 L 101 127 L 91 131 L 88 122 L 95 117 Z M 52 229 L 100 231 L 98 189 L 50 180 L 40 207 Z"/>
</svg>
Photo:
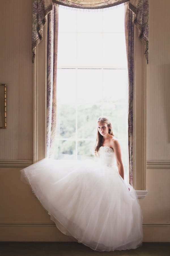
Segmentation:
<svg viewBox="0 0 170 256">
<path fill-rule="evenodd" d="M 134 27 L 133 187 L 146 189 L 146 71 L 144 46 Z"/>
</svg>

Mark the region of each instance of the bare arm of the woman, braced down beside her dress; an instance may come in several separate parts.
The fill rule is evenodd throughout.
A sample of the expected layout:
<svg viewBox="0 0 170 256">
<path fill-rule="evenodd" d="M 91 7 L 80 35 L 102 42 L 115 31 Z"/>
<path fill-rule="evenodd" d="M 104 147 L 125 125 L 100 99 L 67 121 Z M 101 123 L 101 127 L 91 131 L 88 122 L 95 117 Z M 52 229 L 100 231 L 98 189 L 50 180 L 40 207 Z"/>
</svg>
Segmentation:
<svg viewBox="0 0 170 256">
<path fill-rule="evenodd" d="M 124 167 L 122 163 L 121 149 L 120 144 L 117 140 L 112 141 L 112 148 L 114 149 L 119 174 L 124 179 Z"/>
</svg>

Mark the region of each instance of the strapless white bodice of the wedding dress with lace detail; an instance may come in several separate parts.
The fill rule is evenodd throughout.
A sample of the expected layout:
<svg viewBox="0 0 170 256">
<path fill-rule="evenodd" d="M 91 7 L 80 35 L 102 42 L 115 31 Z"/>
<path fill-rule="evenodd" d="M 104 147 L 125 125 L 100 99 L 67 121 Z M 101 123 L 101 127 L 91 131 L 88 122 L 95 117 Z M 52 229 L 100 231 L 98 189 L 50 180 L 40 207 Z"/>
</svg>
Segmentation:
<svg viewBox="0 0 170 256">
<path fill-rule="evenodd" d="M 105 166 L 116 166 L 116 158 L 114 150 L 109 146 L 101 146 L 99 148 L 99 162 Z"/>
</svg>

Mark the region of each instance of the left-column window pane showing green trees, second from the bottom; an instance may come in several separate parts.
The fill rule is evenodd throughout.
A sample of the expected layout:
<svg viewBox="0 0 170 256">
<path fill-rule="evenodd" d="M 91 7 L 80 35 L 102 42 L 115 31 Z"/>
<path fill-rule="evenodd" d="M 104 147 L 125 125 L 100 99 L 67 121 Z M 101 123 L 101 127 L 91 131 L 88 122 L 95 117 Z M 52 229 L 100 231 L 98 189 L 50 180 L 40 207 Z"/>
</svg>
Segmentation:
<svg viewBox="0 0 170 256">
<path fill-rule="evenodd" d="M 57 137 L 73 138 L 76 131 L 76 109 L 71 105 L 60 105 L 57 109 Z"/>
</svg>

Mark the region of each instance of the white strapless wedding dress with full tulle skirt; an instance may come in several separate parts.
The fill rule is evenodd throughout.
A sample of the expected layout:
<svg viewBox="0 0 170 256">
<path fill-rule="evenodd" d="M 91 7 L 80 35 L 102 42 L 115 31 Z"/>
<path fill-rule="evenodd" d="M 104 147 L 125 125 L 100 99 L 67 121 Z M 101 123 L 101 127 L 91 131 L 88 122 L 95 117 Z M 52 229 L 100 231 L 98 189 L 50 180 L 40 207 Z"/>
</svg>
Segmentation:
<svg viewBox="0 0 170 256">
<path fill-rule="evenodd" d="M 118 173 L 113 149 L 101 146 L 98 162 L 44 158 L 21 172 L 64 234 L 98 251 L 141 245 L 139 202 Z"/>
</svg>

